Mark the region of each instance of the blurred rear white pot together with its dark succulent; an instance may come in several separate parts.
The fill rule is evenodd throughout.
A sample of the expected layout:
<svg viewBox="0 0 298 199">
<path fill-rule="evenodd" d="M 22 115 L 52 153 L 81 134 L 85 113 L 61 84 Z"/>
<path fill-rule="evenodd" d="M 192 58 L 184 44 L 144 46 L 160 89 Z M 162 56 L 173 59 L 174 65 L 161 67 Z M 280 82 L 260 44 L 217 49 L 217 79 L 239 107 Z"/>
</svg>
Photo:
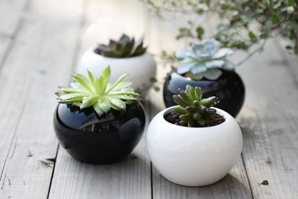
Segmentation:
<svg viewBox="0 0 298 199">
<path fill-rule="evenodd" d="M 127 35 L 119 41 L 110 40 L 108 45 L 100 44 L 85 52 L 77 66 L 78 73 L 86 74 L 86 69 L 95 76 L 100 76 L 105 66 L 110 65 L 113 71 L 111 81 L 119 75 L 129 73 L 128 81 L 134 82 L 133 87 L 145 94 L 151 86 L 150 79 L 156 75 L 156 63 L 153 56 L 143 47 L 143 38 L 137 42 Z"/>
</svg>

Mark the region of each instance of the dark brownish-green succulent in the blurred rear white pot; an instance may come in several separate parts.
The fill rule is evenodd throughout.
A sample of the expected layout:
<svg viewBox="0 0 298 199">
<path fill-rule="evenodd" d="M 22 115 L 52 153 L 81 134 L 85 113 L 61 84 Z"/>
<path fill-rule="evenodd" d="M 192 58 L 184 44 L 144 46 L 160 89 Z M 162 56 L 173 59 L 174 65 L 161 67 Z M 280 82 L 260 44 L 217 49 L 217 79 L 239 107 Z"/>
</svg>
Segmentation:
<svg viewBox="0 0 298 199">
<path fill-rule="evenodd" d="M 134 38 L 123 34 L 119 41 L 110 39 L 108 45 L 100 44 L 94 52 L 105 57 L 134 57 L 142 55 L 146 48 L 143 47 L 143 37 L 135 43 Z"/>
</svg>

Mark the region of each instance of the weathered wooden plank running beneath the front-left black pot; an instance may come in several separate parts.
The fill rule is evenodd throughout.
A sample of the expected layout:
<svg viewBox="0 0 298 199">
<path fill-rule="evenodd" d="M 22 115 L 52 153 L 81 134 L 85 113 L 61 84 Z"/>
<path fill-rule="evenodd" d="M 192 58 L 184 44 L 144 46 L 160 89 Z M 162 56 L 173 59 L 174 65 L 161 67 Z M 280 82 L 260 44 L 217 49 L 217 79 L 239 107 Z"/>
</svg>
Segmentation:
<svg viewBox="0 0 298 199">
<path fill-rule="evenodd" d="M 134 0 L 88 1 L 80 54 L 97 42 L 117 39 L 122 31 L 141 36 L 145 26 L 143 10 L 144 5 Z M 147 112 L 149 107 L 145 108 Z M 146 117 L 148 121 L 148 114 Z M 115 164 L 81 163 L 59 147 L 49 198 L 151 198 L 145 133 L 136 149 Z"/>
</svg>

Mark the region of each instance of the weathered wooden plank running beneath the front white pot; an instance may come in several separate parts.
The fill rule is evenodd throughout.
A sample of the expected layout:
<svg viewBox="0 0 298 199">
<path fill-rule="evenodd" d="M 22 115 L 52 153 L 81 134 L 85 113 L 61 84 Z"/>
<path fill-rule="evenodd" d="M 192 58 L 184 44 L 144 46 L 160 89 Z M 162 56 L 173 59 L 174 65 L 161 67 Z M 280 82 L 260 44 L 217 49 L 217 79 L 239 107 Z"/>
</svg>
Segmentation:
<svg viewBox="0 0 298 199">
<path fill-rule="evenodd" d="M 178 34 L 178 27 L 185 26 L 188 19 L 195 19 L 194 21 L 196 23 L 203 25 L 206 24 L 206 21 L 209 23 L 212 21 L 209 16 L 195 18 L 190 15 L 176 19 L 176 21 L 158 21 L 158 24 L 156 24 L 156 19 L 153 17 L 150 22 L 150 26 L 153 27 L 150 29 L 152 31 L 150 35 L 159 35 L 161 37 L 160 41 L 162 41 L 156 47 L 156 52 L 160 52 L 162 49 L 169 49 L 170 52 L 170 50 L 175 51 L 188 46 L 189 39 L 184 40 L 184 43 L 182 43 L 183 40 L 175 41 L 175 36 Z M 159 33 L 161 28 L 158 29 L 155 26 L 162 27 L 162 35 Z M 204 26 L 206 27 L 206 35 L 212 35 L 213 30 L 206 25 Z M 164 82 L 165 74 L 169 71 L 170 69 L 168 67 L 163 67 L 162 64 L 159 65 L 157 71 L 159 82 Z M 161 91 L 151 91 L 150 93 L 151 119 L 165 108 L 162 101 L 162 86 Z M 152 186 L 153 198 L 252 198 L 242 157 L 239 158 L 237 164 L 221 181 L 204 187 L 187 187 L 174 184 L 160 175 L 152 165 Z"/>
</svg>

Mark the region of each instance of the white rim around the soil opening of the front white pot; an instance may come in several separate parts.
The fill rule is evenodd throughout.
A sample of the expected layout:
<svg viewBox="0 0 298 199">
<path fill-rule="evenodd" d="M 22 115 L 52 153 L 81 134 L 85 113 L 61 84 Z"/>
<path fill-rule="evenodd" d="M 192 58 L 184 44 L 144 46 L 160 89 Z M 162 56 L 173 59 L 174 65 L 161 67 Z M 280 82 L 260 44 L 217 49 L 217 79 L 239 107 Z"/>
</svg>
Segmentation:
<svg viewBox="0 0 298 199">
<path fill-rule="evenodd" d="M 169 108 L 166 108 L 166 109 L 160 111 L 159 114 L 162 116 L 162 119 L 163 119 L 164 122 L 167 122 L 167 124 L 169 124 L 171 127 L 174 127 L 174 126 L 175 126 L 176 128 L 181 128 L 181 130 L 210 129 L 210 128 L 216 128 L 216 127 L 218 128 L 218 127 L 224 125 L 225 123 L 229 123 L 229 122 L 231 122 L 231 120 L 234 119 L 234 118 L 233 118 L 230 114 L 228 114 L 226 111 L 221 110 L 220 108 L 211 107 L 211 108 L 213 108 L 213 109 L 216 110 L 216 114 L 218 114 L 218 115 L 224 117 L 225 121 L 224 121 L 223 123 L 221 123 L 221 124 L 219 124 L 219 125 L 215 125 L 215 126 L 210 126 L 210 127 L 185 127 L 185 126 L 178 126 L 178 125 L 174 125 L 174 124 L 172 124 L 172 123 L 170 123 L 170 122 L 168 122 L 167 120 L 164 119 L 164 116 L 167 115 L 167 114 L 169 114 L 170 112 L 173 112 L 175 107 L 179 107 L 179 105 L 171 106 L 171 107 L 169 107 Z M 159 115 L 159 114 L 158 114 L 158 115 Z M 235 120 L 235 119 L 234 119 L 234 120 Z"/>
</svg>

